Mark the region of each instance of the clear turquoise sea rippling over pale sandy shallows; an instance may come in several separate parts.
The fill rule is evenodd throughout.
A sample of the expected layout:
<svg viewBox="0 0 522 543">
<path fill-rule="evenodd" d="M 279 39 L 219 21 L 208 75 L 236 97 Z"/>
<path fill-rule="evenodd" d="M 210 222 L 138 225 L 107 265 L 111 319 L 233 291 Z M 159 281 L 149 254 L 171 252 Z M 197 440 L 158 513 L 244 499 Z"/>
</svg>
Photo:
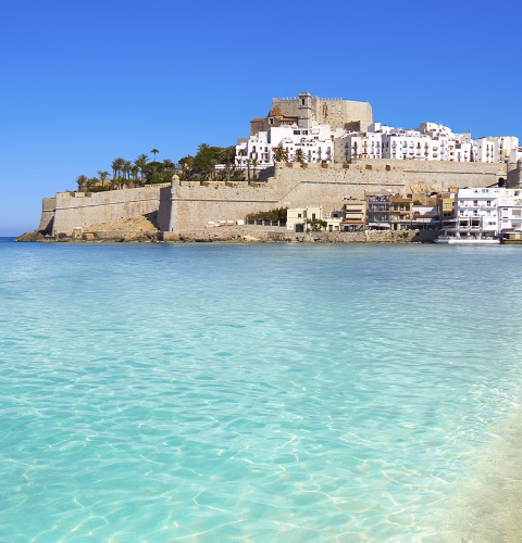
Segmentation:
<svg viewBox="0 0 522 543">
<path fill-rule="evenodd" d="M 0 243 L 0 541 L 520 541 L 522 247 Z"/>
</svg>

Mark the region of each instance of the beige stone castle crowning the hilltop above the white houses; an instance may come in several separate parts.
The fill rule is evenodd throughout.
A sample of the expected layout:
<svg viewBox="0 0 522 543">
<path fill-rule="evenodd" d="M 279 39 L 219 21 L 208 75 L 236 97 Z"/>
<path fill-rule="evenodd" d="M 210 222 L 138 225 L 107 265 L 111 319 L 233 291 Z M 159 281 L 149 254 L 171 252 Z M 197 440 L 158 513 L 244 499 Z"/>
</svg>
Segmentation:
<svg viewBox="0 0 522 543">
<path fill-rule="evenodd" d="M 369 102 L 312 97 L 310 92 L 299 92 L 297 98 L 273 98 L 266 117 L 250 122 L 250 135 L 269 130 L 272 126 L 296 124 L 309 128 L 314 122 L 330 125 L 333 130 L 366 130 L 373 122 L 372 106 Z"/>
</svg>

